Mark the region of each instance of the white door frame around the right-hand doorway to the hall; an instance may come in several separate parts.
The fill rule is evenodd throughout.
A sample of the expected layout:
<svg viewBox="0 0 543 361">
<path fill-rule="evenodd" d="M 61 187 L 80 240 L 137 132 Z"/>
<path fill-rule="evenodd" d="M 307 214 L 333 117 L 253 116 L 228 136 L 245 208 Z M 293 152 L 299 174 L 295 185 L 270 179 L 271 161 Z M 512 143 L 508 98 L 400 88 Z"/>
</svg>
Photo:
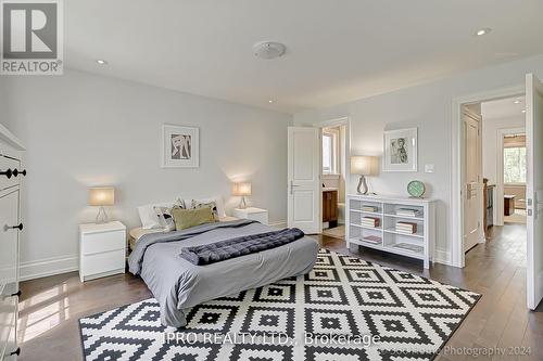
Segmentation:
<svg viewBox="0 0 543 361">
<path fill-rule="evenodd" d="M 526 86 L 498 88 L 494 90 L 482 91 L 454 98 L 452 101 L 452 144 L 451 144 L 451 215 L 450 215 L 450 237 L 451 256 L 450 263 L 455 267 L 464 268 L 465 254 L 463 247 L 464 236 L 464 194 L 463 184 L 464 175 L 464 152 L 465 142 L 462 131 L 462 107 L 473 103 L 488 102 L 492 100 L 505 99 L 523 95 Z"/>
</svg>

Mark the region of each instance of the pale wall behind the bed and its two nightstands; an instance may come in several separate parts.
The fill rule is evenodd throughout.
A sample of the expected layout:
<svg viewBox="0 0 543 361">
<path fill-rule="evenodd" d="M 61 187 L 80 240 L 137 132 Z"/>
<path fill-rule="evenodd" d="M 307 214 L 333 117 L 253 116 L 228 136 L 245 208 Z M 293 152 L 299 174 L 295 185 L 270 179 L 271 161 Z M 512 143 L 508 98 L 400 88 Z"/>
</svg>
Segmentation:
<svg viewBox="0 0 543 361">
<path fill-rule="evenodd" d="M 77 224 L 93 221 L 89 185 L 114 185 L 114 218 L 139 225 L 136 206 L 230 194 L 253 183 L 252 204 L 287 219 L 287 127 L 292 116 L 68 70 L 2 77 L 2 121 L 27 147 L 22 275 L 74 269 Z M 200 127 L 200 168 L 160 167 L 161 127 Z M 230 206 L 239 199 L 230 199 Z"/>
</svg>

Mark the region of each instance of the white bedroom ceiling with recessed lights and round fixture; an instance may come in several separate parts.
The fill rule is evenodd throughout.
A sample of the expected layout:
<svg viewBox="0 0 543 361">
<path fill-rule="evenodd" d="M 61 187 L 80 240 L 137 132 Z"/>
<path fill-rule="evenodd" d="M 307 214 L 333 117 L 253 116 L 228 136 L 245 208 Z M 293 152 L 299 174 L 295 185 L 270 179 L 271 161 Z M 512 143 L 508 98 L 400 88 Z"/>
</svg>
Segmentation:
<svg viewBox="0 0 543 361">
<path fill-rule="evenodd" d="M 67 67 L 289 113 L 543 53 L 542 0 L 73 0 L 64 7 Z M 473 37 L 482 27 L 493 31 Z M 255 59 L 251 48 L 261 40 L 285 43 L 287 54 Z"/>
</svg>

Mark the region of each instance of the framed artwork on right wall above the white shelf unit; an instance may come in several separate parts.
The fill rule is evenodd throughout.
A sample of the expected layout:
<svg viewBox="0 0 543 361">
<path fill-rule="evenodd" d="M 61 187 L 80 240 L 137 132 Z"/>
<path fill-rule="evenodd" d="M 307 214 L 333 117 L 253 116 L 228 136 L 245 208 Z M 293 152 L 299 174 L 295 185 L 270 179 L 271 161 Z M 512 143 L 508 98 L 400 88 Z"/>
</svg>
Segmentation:
<svg viewBox="0 0 543 361">
<path fill-rule="evenodd" d="M 383 171 L 417 171 L 417 128 L 384 132 Z"/>
</svg>

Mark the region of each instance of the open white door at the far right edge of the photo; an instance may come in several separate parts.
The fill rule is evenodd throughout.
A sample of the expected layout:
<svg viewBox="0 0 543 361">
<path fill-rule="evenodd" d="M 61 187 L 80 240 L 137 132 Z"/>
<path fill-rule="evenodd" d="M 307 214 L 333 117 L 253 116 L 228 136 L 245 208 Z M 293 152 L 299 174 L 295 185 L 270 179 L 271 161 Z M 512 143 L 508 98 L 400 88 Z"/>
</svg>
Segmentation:
<svg viewBox="0 0 543 361">
<path fill-rule="evenodd" d="M 543 85 L 526 76 L 527 297 L 533 310 L 543 297 Z"/>
</svg>

